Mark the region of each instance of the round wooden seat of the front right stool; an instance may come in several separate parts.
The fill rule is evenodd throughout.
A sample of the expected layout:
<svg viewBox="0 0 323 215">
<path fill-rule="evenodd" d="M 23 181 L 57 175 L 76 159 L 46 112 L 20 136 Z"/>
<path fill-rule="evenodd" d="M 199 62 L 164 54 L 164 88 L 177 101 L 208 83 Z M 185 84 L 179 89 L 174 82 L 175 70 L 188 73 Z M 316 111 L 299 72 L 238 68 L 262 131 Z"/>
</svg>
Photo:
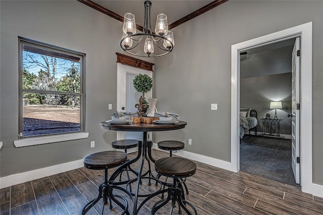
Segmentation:
<svg viewBox="0 0 323 215">
<path fill-rule="evenodd" d="M 173 178 L 186 178 L 196 172 L 196 164 L 185 158 L 161 158 L 155 162 L 156 172 Z"/>
</svg>

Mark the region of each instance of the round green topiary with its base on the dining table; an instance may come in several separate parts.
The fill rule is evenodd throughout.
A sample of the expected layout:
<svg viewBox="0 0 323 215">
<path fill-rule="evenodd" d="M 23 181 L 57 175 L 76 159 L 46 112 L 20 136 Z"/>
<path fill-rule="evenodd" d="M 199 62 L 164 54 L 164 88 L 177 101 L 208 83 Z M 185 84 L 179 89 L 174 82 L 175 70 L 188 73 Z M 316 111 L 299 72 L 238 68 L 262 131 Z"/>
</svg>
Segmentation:
<svg viewBox="0 0 323 215">
<path fill-rule="evenodd" d="M 147 110 L 147 102 L 144 102 L 145 93 L 152 88 L 152 78 L 146 74 L 138 74 L 133 80 L 133 86 L 137 92 L 142 93 L 139 103 L 135 104 L 135 107 L 138 108 L 138 116 L 141 116 L 144 113 L 143 110 Z"/>
</svg>

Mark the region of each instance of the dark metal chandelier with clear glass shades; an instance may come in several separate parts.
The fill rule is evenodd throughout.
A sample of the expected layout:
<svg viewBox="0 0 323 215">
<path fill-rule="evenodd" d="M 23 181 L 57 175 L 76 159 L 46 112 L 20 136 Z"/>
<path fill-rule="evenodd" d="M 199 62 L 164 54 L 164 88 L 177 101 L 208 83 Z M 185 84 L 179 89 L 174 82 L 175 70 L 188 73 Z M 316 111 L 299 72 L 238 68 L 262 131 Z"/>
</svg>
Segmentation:
<svg viewBox="0 0 323 215">
<path fill-rule="evenodd" d="M 135 16 L 127 13 L 123 22 L 121 48 L 140 57 L 159 57 L 170 53 L 174 48 L 173 32 L 168 30 L 167 16 L 158 14 L 155 31 L 151 30 L 151 2 L 145 1 L 145 21 L 142 33 L 137 33 Z M 141 43 L 141 41 L 144 41 Z M 156 49 L 155 49 L 156 47 Z"/>
</svg>

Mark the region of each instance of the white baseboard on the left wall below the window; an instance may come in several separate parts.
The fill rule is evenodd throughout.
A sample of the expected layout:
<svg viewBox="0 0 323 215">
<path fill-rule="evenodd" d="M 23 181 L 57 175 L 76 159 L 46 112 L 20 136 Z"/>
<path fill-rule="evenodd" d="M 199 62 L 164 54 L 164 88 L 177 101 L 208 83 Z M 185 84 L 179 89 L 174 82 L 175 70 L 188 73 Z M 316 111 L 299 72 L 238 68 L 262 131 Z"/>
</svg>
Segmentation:
<svg viewBox="0 0 323 215">
<path fill-rule="evenodd" d="M 83 159 L 0 178 L 0 189 L 83 167 Z"/>
</svg>

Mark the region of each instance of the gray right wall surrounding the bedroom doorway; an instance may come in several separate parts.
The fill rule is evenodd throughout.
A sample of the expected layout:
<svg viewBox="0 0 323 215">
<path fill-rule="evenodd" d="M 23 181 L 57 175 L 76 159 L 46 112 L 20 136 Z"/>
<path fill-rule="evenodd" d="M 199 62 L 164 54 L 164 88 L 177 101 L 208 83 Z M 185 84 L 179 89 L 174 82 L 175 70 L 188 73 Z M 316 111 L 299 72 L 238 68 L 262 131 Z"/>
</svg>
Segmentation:
<svg viewBox="0 0 323 215">
<path fill-rule="evenodd" d="M 192 138 L 185 150 L 230 161 L 231 45 L 312 21 L 313 182 L 323 185 L 322 12 L 322 1 L 229 1 L 173 29 L 174 51 L 155 59 L 154 96 L 188 125 L 154 140 Z"/>
</svg>

